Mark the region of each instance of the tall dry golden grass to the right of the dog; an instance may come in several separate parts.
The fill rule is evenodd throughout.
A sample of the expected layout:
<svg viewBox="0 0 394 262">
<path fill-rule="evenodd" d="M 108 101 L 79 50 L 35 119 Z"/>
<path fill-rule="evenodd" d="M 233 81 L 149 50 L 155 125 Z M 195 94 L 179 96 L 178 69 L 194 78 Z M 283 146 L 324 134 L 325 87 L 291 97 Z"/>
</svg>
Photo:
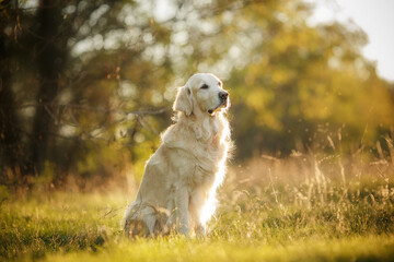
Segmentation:
<svg viewBox="0 0 394 262">
<path fill-rule="evenodd" d="M 385 142 L 390 151 L 379 157 L 293 152 L 230 168 L 212 235 L 269 242 L 393 234 L 394 151 Z"/>
</svg>

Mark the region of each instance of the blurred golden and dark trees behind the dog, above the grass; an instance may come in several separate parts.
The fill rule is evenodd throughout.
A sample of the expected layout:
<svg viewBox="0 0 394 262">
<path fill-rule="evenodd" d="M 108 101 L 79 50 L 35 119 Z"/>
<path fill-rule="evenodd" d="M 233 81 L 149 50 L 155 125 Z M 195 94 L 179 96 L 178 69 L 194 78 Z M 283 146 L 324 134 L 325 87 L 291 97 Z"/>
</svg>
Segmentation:
<svg viewBox="0 0 394 262">
<path fill-rule="evenodd" d="M 0 1 L 2 189 L 138 184 L 196 72 L 231 94 L 231 166 L 317 153 L 394 163 L 394 84 L 362 56 L 360 27 L 310 23 L 314 5 Z"/>
</svg>

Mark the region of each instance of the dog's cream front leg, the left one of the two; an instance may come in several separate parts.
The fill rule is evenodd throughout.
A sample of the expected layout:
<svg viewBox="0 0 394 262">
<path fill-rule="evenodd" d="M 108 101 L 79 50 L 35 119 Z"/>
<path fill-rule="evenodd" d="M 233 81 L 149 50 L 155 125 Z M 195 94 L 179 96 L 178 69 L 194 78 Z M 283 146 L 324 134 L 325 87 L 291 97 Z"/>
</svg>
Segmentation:
<svg viewBox="0 0 394 262">
<path fill-rule="evenodd" d="M 185 187 L 175 192 L 176 228 L 183 235 L 189 235 L 188 192 Z"/>
</svg>

